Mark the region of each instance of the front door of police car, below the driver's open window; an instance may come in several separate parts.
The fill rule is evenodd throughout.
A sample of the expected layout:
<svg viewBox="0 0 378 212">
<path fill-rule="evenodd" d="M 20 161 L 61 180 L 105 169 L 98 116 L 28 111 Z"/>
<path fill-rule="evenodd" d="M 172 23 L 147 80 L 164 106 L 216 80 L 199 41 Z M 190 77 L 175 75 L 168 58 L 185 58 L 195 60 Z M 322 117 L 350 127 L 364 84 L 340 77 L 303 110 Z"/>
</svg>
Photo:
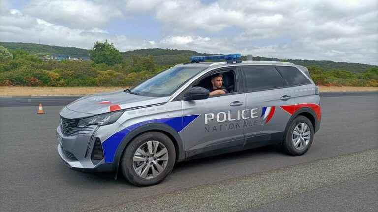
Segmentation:
<svg viewBox="0 0 378 212">
<path fill-rule="evenodd" d="M 234 92 L 203 100 L 182 101 L 183 122 L 186 127 L 179 133 L 184 141 L 187 157 L 201 153 L 208 156 L 212 154 L 209 152 L 218 154 L 243 147 L 240 112 L 245 108 L 245 97 L 239 92 L 237 73 L 235 70 L 232 73 L 235 75 L 236 84 Z"/>
</svg>

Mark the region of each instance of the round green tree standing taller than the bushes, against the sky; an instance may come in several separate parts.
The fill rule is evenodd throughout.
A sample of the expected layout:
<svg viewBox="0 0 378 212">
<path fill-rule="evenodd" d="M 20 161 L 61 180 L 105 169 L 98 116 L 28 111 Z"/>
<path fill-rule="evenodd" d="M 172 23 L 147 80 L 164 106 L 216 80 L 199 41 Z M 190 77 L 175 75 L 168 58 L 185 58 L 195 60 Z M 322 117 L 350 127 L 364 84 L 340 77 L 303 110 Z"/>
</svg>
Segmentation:
<svg viewBox="0 0 378 212">
<path fill-rule="evenodd" d="M 89 57 L 97 64 L 105 63 L 110 66 L 122 62 L 121 53 L 107 40 L 105 43 L 95 42 L 92 50 L 89 51 Z"/>
</svg>

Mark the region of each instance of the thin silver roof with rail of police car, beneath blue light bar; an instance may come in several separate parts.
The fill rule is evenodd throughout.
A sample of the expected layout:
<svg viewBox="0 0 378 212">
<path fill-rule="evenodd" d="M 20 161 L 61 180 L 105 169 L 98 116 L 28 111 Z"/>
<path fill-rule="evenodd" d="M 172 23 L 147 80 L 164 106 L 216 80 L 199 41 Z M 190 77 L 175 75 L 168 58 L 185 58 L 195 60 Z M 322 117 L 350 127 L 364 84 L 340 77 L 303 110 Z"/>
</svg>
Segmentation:
<svg viewBox="0 0 378 212">
<path fill-rule="evenodd" d="M 279 61 L 256 61 L 256 60 L 247 60 L 242 61 L 241 63 L 227 63 L 227 62 L 199 62 L 199 63 L 183 63 L 177 64 L 176 66 L 187 66 L 187 67 L 225 67 L 225 66 L 235 66 L 235 65 L 286 65 L 286 66 L 295 66 L 295 64 L 290 62 L 279 62 Z"/>
</svg>

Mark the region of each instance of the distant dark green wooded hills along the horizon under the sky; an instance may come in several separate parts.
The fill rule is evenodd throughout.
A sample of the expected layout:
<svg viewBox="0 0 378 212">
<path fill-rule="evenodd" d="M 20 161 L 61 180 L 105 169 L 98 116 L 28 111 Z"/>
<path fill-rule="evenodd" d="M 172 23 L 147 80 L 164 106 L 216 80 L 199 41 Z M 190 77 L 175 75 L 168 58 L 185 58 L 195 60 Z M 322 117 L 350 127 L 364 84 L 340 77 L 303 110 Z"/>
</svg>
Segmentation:
<svg viewBox="0 0 378 212">
<path fill-rule="evenodd" d="M 14 43 L 14 42 L 0 42 L 1 46 L 8 48 L 9 50 L 25 50 L 36 55 L 50 55 L 50 54 L 66 54 L 77 57 L 88 57 L 89 50 L 76 47 L 61 47 L 50 46 L 44 44 L 33 43 Z M 198 53 L 192 50 L 177 50 L 177 49 L 138 49 L 132 51 L 122 52 L 122 55 L 127 60 L 131 55 L 137 56 L 152 56 L 155 63 L 158 65 L 174 65 L 178 63 L 189 62 L 190 56 L 202 56 L 210 55 L 206 53 Z M 244 57 L 245 58 L 245 57 Z M 332 69 L 339 69 L 345 71 L 351 71 L 354 73 L 360 73 L 369 68 L 378 66 L 361 64 L 361 63 L 347 63 L 347 62 L 334 62 L 328 60 L 301 60 L 301 59 L 285 59 L 280 60 L 277 58 L 269 57 L 253 57 L 254 60 L 268 60 L 268 61 L 287 61 L 302 66 L 319 66 L 323 70 L 329 71 Z"/>
</svg>

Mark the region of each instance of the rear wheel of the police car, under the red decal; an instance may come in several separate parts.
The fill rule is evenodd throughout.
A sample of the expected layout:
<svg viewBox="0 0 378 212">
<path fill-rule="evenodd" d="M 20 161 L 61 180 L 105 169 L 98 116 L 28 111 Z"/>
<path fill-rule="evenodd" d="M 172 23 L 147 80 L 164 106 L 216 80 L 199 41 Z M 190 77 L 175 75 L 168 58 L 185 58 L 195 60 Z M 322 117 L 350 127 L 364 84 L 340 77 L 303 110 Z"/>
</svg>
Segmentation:
<svg viewBox="0 0 378 212">
<path fill-rule="evenodd" d="M 302 126 L 305 129 L 303 132 Z M 285 134 L 282 144 L 284 152 L 292 156 L 300 156 L 305 154 L 313 143 L 314 127 L 307 117 L 298 116 L 291 122 Z"/>
</svg>

